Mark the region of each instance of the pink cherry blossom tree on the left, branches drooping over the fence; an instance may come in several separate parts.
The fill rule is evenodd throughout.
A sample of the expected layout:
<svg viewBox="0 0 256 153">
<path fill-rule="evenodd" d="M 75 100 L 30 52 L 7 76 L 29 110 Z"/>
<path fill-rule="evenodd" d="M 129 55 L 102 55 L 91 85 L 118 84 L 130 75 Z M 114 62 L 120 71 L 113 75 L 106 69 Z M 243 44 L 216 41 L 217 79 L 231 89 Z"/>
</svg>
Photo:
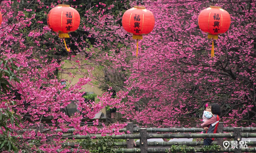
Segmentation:
<svg viewBox="0 0 256 153">
<path fill-rule="evenodd" d="M 64 60 L 76 60 L 76 53 L 83 51 L 76 48 L 83 33 L 71 34 L 71 41 L 68 44 L 73 44 L 72 41 L 75 40 L 75 47 L 72 52 L 67 52 L 63 40 L 58 38 L 46 23 L 49 9 L 59 3 L 73 4 L 72 7 L 77 7 L 76 2 L 68 1 L 1 1 L 1 152 L 58 152 L 57 149 L 67 152 L 69 148 L 62 147 L 61 142 L 66 141 L 62 136 L 71 127 L 75 128 L 71 135 L 104 135 L 112 133 L 113 128 L 116 129 L 115 134 L 120 134 L 118 129 L 126 125 L 103 124 L 103 127 L 98 129 L 97 120 L 94 126 L 80 125 L 81 122 L 87 123 L 86 119 L 93 118 L 104 107 L 119 104 L 128 92 L 120 91 L 116 98 L 112 98 L 112 93 L 107 91 L 99 96 L 98 103 L 85 102 L 82 98 L 83 85 L 88 84 L 91 78 L 80 78 L 78 83 L 66 88 L 65 85 L 61 85 L 61 80 L 57 78 L 57 74 L 62 70 L 61 64 L 65 62 Z M 89 5 L 91 4 L 83 4 L 81 9 Z M 110 6 L 104 4 L 104 7 Z M 93 7 L 89 7 L 88 10 L 91 11 L 88 13 L 91 16 L 98 11 Z M 84 19 L 85 17 L 82 18 L 82 24 Z M 79 67 L 87 67 L 86 64 L 79 65 L 79 61 L 77 63 Z M 90 69 L 88 66 L 85 73 L 88 75 L 85 76 L 90 76 Z M 70 75 L 76 76 L 75 73 Z M 63 109 L 71 101 L 76 103 L 80 112 L 70 117 Z M 47 117 L 51 119 L 52 124 L 43 122 Z M 41 123 L 44 123 L 44 129 L 49 130 L 42 129 Z M 57 128 L 61 131 L 56 131 Z M 74 149 L 73 152 L 78 149 L 81 148 Z"/>
</svg>

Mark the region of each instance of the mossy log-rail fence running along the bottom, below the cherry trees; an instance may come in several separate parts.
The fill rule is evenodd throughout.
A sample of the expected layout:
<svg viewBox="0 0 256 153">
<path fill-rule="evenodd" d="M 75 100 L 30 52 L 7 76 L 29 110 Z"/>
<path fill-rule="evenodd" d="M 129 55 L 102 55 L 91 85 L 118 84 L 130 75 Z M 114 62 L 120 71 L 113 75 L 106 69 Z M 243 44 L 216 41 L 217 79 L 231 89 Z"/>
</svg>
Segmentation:
<svg viewBox="0 0 256 153">
<path fill-rule="evenodd" d="M 68 132 L 72 132 L 74 129 L 69 129 Z M 242 140 L 242 138 L 256 138 L 256 127 L 223 127 L 223 123 L 220 122 L 218 125 L 217 133 L 207 133 L 201 134 L 202 128 L 135 128 L 133 123 L 128 123 L 125 129 L 120 131 L 130 131 L 129 134 L 123 135 L 112 135 L 113 139 L 125 139 L 126 142 L 118 142 L 118 148 L 115 149 L 116 153 L 162 153 L 169 149 L 172 145 L 186 145 L 194 146 L 187 152 L 195 152 L 203 146 L 203 142 L 148 142 L 147 139 L 152 138 L 216 138 L 216 142 L 212 144 L 220 145 L 219 150 L 209 150 L 208 152 L 256 152 L 256 141 L 247 142 L 248 148 L 225 148 L 223 147 L 223 138 L 231 138 L 237 141 L 237 144 Z M 152 133 L 165 133 L 165 134 L 152 134 Z M 182 133 L 179 133 L 182 132 Z M 186 133 L 188 132 L 188 133 Z M 228 133 L 223 133 L 228 132 Z M 133 134 L 139 133 L 139 134 Z M 63 135 L 63 139 L 87 139 L 94 136 L 94 139 L 102 138 L 101 135 Z M 134 139 L 140 139 L 140 142 L 134 142 Z M 231 144 L 231 142 L 229 142 Z M 75 146 L 72 143 L 65 143 L 64 146 Z M 148 146 L 166 146 L 166 148 L 148 148 Z M 167 147 L 168 146 L 168 147 Z"/>
</svg>

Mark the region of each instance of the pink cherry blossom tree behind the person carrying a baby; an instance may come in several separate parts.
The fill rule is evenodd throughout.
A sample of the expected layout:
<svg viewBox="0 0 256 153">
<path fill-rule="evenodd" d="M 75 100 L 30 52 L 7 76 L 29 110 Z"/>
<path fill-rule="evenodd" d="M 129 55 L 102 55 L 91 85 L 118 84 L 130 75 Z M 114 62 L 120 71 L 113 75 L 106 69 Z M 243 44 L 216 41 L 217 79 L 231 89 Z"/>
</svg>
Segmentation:
<svg viewBox="0 0 256 153">
<path fill-rule="evenodd" d="M 117 28 L 114 34 L 97 35 L 93 52 L 109 74 L 105 84 L 117 91 L 132 86 L 128 102 L 120 105 L 125 118 L 142 125 L 191 126 L 201 122 L 194 117 L 200 117 L 206 102 L 216 102 L 226 126 L 255 126 L 255 2 L 143 2 L 156 23 L 139 41 L 138 57 L 135 40 L 115 24 L 111 25 Z M 212 40 L 197 23 L 200 11 L 210 5 L 221 6 L 231 16 L 229 30 L 214 40 L 213 58 Z M 117 34 L 118 39 L 113 39 Z M 109 41 L 102 44 L 103 39 Z"/>
</svg>

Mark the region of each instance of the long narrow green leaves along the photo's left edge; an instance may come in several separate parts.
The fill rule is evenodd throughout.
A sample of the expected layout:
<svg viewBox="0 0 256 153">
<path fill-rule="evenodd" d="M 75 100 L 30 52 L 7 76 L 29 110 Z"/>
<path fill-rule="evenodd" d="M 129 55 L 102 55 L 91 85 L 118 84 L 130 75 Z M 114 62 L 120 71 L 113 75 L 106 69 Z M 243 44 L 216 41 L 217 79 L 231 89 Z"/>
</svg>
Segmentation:
<svg viewBox="0 0 256 153">
<path fill-rule="evenodd" d="M 15 65 L 16 61 L 13 59 L 7 59 L 5 56 L 0 58 L 0 95 L 8 94 L 12 91 L 11 82 L 20 83 L 20 71 L 23 71 L 21 67 Z M 15 114 L 13 109 L 10 109 L 9 106 L 15 105 L 16 102 L 11 100 L 2 100 L 5 101 L 6 108 L 0 108 L 0 129 L 3 134 L 0 134 L 0 150 L 5 150 L 10 152 L 18 151 L 18 143 L 15 137 L 11 136 L 12 130 L 8 126 L 20 127 L 20 116 Z M 21 127 L 20 127 L 21 128 Z"/>
</svg>

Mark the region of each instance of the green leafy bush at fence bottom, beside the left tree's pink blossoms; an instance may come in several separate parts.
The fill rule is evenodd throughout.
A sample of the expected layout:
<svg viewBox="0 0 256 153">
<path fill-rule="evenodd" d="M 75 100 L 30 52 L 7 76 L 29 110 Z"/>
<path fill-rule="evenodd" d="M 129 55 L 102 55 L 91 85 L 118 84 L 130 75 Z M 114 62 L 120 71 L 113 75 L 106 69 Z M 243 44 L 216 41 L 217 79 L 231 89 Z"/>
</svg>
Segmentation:
<svg viewBox="0 0 256 153">
<path fill-rule="evenodd" d="M 96 142 L 94 142 L 92 139 L 82 140 L 80 146 L 83 149 L 89 150 L 91 153 L 114 153 L 116 142 L 118 142 L 118 140 L 112 139 L 110 136 L 105 136 L 98 139 Z"/>
</svg>

